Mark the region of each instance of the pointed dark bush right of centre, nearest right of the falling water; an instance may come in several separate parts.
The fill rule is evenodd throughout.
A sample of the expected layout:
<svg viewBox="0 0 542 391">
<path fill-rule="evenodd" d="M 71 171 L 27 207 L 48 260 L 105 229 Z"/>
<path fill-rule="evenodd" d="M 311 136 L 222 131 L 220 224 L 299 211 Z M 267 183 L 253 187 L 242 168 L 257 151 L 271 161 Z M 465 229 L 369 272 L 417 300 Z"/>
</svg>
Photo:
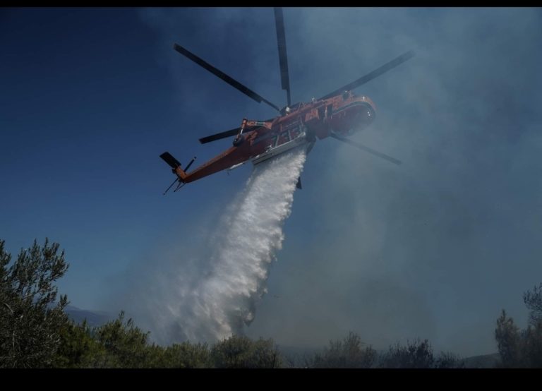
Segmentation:
<svg viewBox="0 0 542 391">
<path fill-rule="evenodd" d="M 371 346 L 363 348 L 359 335 L 350 332 L 342 341 L 330 341 L 323 354 L 315 354 L 314 368 L 371 368 L 377 354 Z"/>
</svg>

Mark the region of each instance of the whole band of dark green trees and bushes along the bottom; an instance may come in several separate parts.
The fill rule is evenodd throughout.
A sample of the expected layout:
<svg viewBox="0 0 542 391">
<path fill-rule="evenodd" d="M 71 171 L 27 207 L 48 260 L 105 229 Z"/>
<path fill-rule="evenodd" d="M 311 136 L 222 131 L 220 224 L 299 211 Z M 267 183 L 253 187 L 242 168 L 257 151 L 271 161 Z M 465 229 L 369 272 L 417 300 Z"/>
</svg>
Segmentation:
<svg viewBox="0 0 542 391">
<path fill-rule="evenodd" d="M 272 339 L 253 341 L 232 336 L 207 344 L 182 342 L 169 347 L 148 343 L 149 332 L 124 320 L 90 327 L 68 320 L 66 296 L 57 299 L 57 279 L 68 264 L 59 244 L 46 239 L 11 254 L 0 240 L 0 368 L 279 368 L 283 358 Z M 499 366 L 542 368 L 542 284 L 526 291 L 529 324 L 520 330 L 503 310 L 497 320 L 495 340 Z M 295 361 L 295 360 L 294 360 Z M 296 366 L 291 361 L 290 366 Z M 395 344 L 378 356 L 350 332 L 342 340 L 330 341 L 322 354 L 304 356 L 301 366 L 315 368 L 462 368 L 458 356 L 433 355 L 427 339 Z"/>
</svg>

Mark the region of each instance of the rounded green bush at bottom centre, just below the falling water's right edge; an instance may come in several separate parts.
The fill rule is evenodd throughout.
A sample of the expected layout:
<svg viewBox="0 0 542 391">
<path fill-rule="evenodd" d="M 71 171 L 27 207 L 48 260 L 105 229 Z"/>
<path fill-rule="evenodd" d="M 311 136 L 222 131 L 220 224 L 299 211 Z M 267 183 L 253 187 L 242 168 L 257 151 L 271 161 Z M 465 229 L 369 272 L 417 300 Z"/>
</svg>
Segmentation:
<svg viewBox="0 0 542 391">
<path fill-rule="evenodd" d="M 238 335 L 215 344 L 211 360 L 216 368 L 279 368 L 282 363 L 272 339 L 252 341 Z"/>
</svg>

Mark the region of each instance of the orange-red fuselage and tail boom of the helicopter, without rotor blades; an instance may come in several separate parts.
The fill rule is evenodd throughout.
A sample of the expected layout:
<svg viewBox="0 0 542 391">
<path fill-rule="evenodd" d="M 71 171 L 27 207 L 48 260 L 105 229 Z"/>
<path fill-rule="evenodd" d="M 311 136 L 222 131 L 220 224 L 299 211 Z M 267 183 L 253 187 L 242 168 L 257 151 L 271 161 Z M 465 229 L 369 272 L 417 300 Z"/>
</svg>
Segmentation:
<svg viewBox="0 0 542 391">
<path fill-rule="evenodd" d="M 181 167 L 175 170 L 183 182 L 193 182 L 198 179 L 229 169 L 258 156 L 278 145 L 296 138 L 305 130 L 307 141 L 326 138 L 330 132 L 341 136 L 350 136 L 354 131 L 370 125 L 375 118 L 376 107 L 368 97 L 356 96 L 344 92 L 326 100 L 292 105 L 289 114 L 277 116 L 251 131 L 243 132 L 243 143 L 233 146 L 217 157 L 205 162 L 190 174 L 183 172 Z"/>
</svg>

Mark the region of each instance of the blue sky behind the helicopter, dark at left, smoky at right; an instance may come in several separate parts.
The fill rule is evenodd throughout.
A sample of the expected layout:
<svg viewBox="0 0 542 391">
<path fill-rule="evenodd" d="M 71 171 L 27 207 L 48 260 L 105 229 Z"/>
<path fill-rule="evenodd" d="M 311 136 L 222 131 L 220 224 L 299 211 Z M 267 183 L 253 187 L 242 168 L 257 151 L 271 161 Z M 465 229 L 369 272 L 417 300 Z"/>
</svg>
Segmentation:
<svg viewBox="0 0 542 391">
<path fill-rule="evenodd" d="M 358 89 L 378 112 L 354 138 L 402 166 L 335 140 L 315 146 L 249 335 L 320 346 L 354 330 L 380 347 L 427 337 L 483 354 L 495 351 L 501 308 L 524 324 L 522 292 L 542 281 L 541 18 L 536 8 L 284 10 L 294 102 L 417 55 Z M 2 8 L 8 250 L 61 243 L 71 265 L 61 291 L 112 311 L 131 305 L 114 299 L 126 280 L 148 286 L 152 268 L 200 252 L 251 167 L 164 197 L 173 177 L 158 155 L 200 164 L 230 140 L 198 138 L 275 113 L 173 43 L 281 105 L 275 34 L 271 8 Z"/>
</svg>

